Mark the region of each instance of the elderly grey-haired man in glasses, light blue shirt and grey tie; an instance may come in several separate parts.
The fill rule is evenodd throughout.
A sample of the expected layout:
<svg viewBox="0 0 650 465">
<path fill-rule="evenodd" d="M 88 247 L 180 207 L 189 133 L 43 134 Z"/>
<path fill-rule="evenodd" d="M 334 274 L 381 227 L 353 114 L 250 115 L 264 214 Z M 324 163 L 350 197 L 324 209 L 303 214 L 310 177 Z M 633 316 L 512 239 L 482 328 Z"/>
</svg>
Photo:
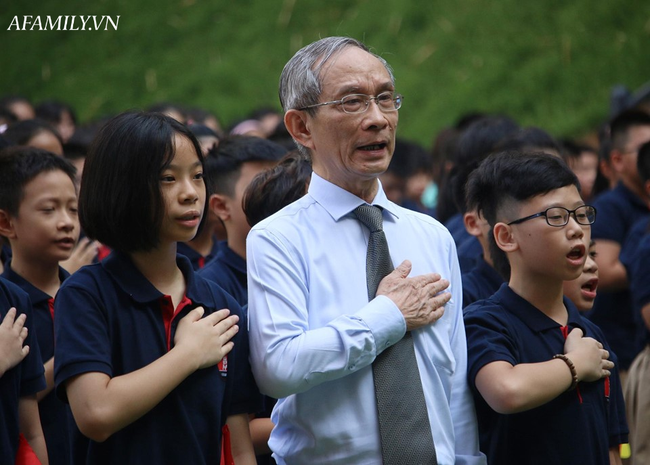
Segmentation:
<svg viewBox="0 0 650 465">
<path fill-rule="evenodd" d="M 314 172 L 307 195 L 247 241 L 253 370 L 279 399 L 274 457 L 485 463 L 453 241 L 377 179 L 402 104 L 390 67 L 356 40 L 322 39 L 287 63 L 280 99 Z"/>
</svg>

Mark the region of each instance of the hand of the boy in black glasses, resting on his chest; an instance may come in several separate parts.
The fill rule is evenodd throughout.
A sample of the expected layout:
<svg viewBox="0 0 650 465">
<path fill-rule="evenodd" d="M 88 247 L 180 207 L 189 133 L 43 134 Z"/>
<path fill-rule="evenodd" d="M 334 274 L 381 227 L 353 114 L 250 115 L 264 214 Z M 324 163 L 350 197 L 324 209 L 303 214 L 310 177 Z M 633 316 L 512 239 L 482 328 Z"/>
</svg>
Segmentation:
<svg viewBox="0 0 650 465">
<path fill-rule="evenodd" d="M 591 337 L 583 337 L 580 328 L 574 328 L 564 343 L 564 353 L 573 362 L 580 381 L 598 381 L 609 376 L 614 362 L 609 360 L 609 352 Z"/>
</svg>

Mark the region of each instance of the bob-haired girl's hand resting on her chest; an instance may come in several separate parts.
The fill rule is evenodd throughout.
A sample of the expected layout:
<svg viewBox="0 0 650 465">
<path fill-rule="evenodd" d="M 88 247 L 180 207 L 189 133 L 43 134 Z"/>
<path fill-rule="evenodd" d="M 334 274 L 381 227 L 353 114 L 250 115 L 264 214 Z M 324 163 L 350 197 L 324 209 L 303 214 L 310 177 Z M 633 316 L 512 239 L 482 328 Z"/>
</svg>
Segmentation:
<svg viewBox="0 0 650 465">
<path fill-rule="evenodd" d="M 237 315 L 227 308 L 203 317 L 205 310 L 197 307 L 179 322 L 174 335 L 175 348 L 186 350 L 196 368 L 207 368 L 219 363 L 234 347 L 231 339 L 239 331 Z"/>
</svg>

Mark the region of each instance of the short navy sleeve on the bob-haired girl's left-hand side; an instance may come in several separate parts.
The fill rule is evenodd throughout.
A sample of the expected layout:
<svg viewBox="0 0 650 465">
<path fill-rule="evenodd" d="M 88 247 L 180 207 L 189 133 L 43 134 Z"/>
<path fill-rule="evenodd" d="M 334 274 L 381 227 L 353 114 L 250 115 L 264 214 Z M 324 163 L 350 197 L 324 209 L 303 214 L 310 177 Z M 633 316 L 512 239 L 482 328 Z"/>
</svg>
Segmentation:
<svg viewBox="0 0 650 465">
<path fill-rule="evenodd" d="M 66 402 L 67 379 L 91 371 L 113 376 L 104 308 L 89 290 L 69 285 L 73 278 L 54 301 L 54 383 L 58 397 Z"/>
</svg>

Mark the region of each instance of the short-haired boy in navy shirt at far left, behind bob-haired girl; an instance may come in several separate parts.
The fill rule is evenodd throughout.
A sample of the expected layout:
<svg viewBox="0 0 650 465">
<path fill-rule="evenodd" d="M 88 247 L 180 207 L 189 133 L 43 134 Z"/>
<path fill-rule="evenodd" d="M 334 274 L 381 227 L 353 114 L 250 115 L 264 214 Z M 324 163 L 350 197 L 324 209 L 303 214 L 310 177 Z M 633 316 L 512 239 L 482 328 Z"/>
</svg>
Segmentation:
<svg viewBox="0 0 650 465">
<path fill-rule="evenodd" d="M 68 411 L 54 388 L 54 296 L 69 275 L 59 262 L 79 238 L 75 168 L 42 149 L 17 147 L 0 159 L 0 234 L 12 259 L 2 277 L 25 291 L 34 308 L 33 332 L 45 362 L 47 387 L 38 409 L 50 464 L 70 463 Z"/>
</svg>

